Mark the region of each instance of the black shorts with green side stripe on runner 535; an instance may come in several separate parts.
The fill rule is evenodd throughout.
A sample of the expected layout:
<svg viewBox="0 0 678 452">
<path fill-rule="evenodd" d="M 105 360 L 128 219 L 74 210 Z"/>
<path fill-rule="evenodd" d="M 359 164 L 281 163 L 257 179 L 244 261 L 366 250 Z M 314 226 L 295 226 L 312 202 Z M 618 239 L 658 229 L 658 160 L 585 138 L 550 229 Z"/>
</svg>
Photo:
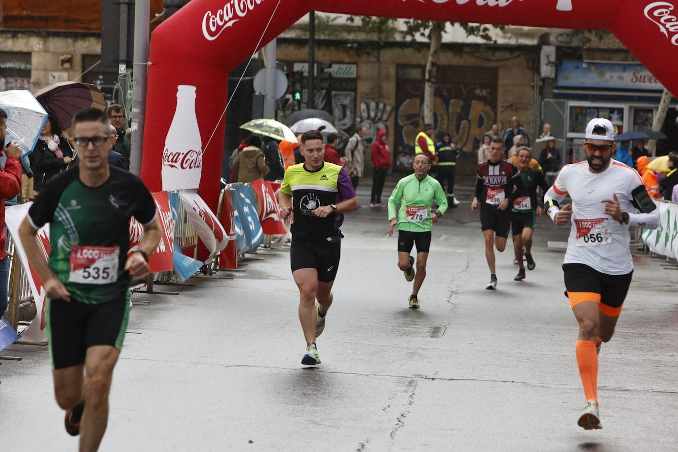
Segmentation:
<svg viewBox="0 0 678 452">
<path fill-rule="evenodd" d="M 119 300 L 85 304 L 47 299 L 45 308 L 52 369 L 85 363 L 87 348 L 123 347 L 129 320 L 129 291 Z"/>
</svg>

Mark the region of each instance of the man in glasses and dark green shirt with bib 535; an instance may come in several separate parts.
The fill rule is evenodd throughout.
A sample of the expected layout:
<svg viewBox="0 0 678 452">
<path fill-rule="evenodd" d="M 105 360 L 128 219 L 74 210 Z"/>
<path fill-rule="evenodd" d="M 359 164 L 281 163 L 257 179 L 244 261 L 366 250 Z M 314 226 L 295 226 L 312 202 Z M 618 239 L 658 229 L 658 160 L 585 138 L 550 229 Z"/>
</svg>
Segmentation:
<svg viewBox="0 0 678 452">
<path fill-rule="evenodd" d="M 45 317 L 54 393 L 66 432 L 80 450 L 96 451 L 108 421 L 108 392 L 129 317 L 129 283 L 148 273 L 161 226 L 141 180 L 108 165 L 115 133 L 96 108 L 73 117 L 77 166 L 50 179 L 19 230 L 28 261 L 47 293 Z M 129 220 L 144 226 L 129 253 Z M 37 243 L 49 223 L 49 262 Z"/>
</svg>

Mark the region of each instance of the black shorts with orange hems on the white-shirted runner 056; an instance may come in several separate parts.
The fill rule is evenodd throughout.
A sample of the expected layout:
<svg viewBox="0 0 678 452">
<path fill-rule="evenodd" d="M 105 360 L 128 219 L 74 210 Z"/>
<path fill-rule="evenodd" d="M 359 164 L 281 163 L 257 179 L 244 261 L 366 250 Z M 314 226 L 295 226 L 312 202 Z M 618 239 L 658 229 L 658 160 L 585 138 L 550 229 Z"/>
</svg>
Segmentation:
<svg viewBox="0 0 678 452">
<path fill-rule="evenodd" d="M 618 315 L 626 300 L 626 293 L 629 293 L 633 271 L 627 274 L 605 274 L 584 264 L 563 264 L 563 274 L 567 289 L 565 295 L 570 298 L 572 306 L 582 301 L 599 301 L 612 308 L 601 306 L 603 313 Z"/>
</svg>

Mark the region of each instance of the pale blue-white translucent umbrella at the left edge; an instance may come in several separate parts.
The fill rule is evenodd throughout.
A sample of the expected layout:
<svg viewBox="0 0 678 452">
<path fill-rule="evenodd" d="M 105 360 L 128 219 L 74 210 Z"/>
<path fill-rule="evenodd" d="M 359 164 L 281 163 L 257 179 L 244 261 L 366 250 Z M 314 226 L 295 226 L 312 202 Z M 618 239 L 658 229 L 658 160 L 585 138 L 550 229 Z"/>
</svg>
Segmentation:
<svg viewBox="0 0 678 452">
<path fill-rule="evenodd" d="M 22 159 L 33 152 L 40 132 L 45 127 L 47 112 L 31 91 L 13 89 L 0 93 L 0 108 L 7 113 L 6 142 L 16 140 L 24 151 Z"/>
</svg>

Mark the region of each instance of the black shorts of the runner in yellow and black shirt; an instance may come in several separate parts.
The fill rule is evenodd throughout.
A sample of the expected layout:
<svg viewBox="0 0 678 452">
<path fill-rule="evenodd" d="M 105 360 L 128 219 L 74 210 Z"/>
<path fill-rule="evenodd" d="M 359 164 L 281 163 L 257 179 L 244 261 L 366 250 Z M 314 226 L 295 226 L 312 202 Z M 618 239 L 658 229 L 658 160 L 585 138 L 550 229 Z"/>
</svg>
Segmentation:
<svg viewBox="0 0 678 452">
<path fill-rule="evenodd" d="M 300 268 L 318 270 L 318 281 L 331 283 L 337 276 L 341 258 L 341 241 L 327 239 L 294 239 L 290 247 L 292 272 Z"/>
</svg>

